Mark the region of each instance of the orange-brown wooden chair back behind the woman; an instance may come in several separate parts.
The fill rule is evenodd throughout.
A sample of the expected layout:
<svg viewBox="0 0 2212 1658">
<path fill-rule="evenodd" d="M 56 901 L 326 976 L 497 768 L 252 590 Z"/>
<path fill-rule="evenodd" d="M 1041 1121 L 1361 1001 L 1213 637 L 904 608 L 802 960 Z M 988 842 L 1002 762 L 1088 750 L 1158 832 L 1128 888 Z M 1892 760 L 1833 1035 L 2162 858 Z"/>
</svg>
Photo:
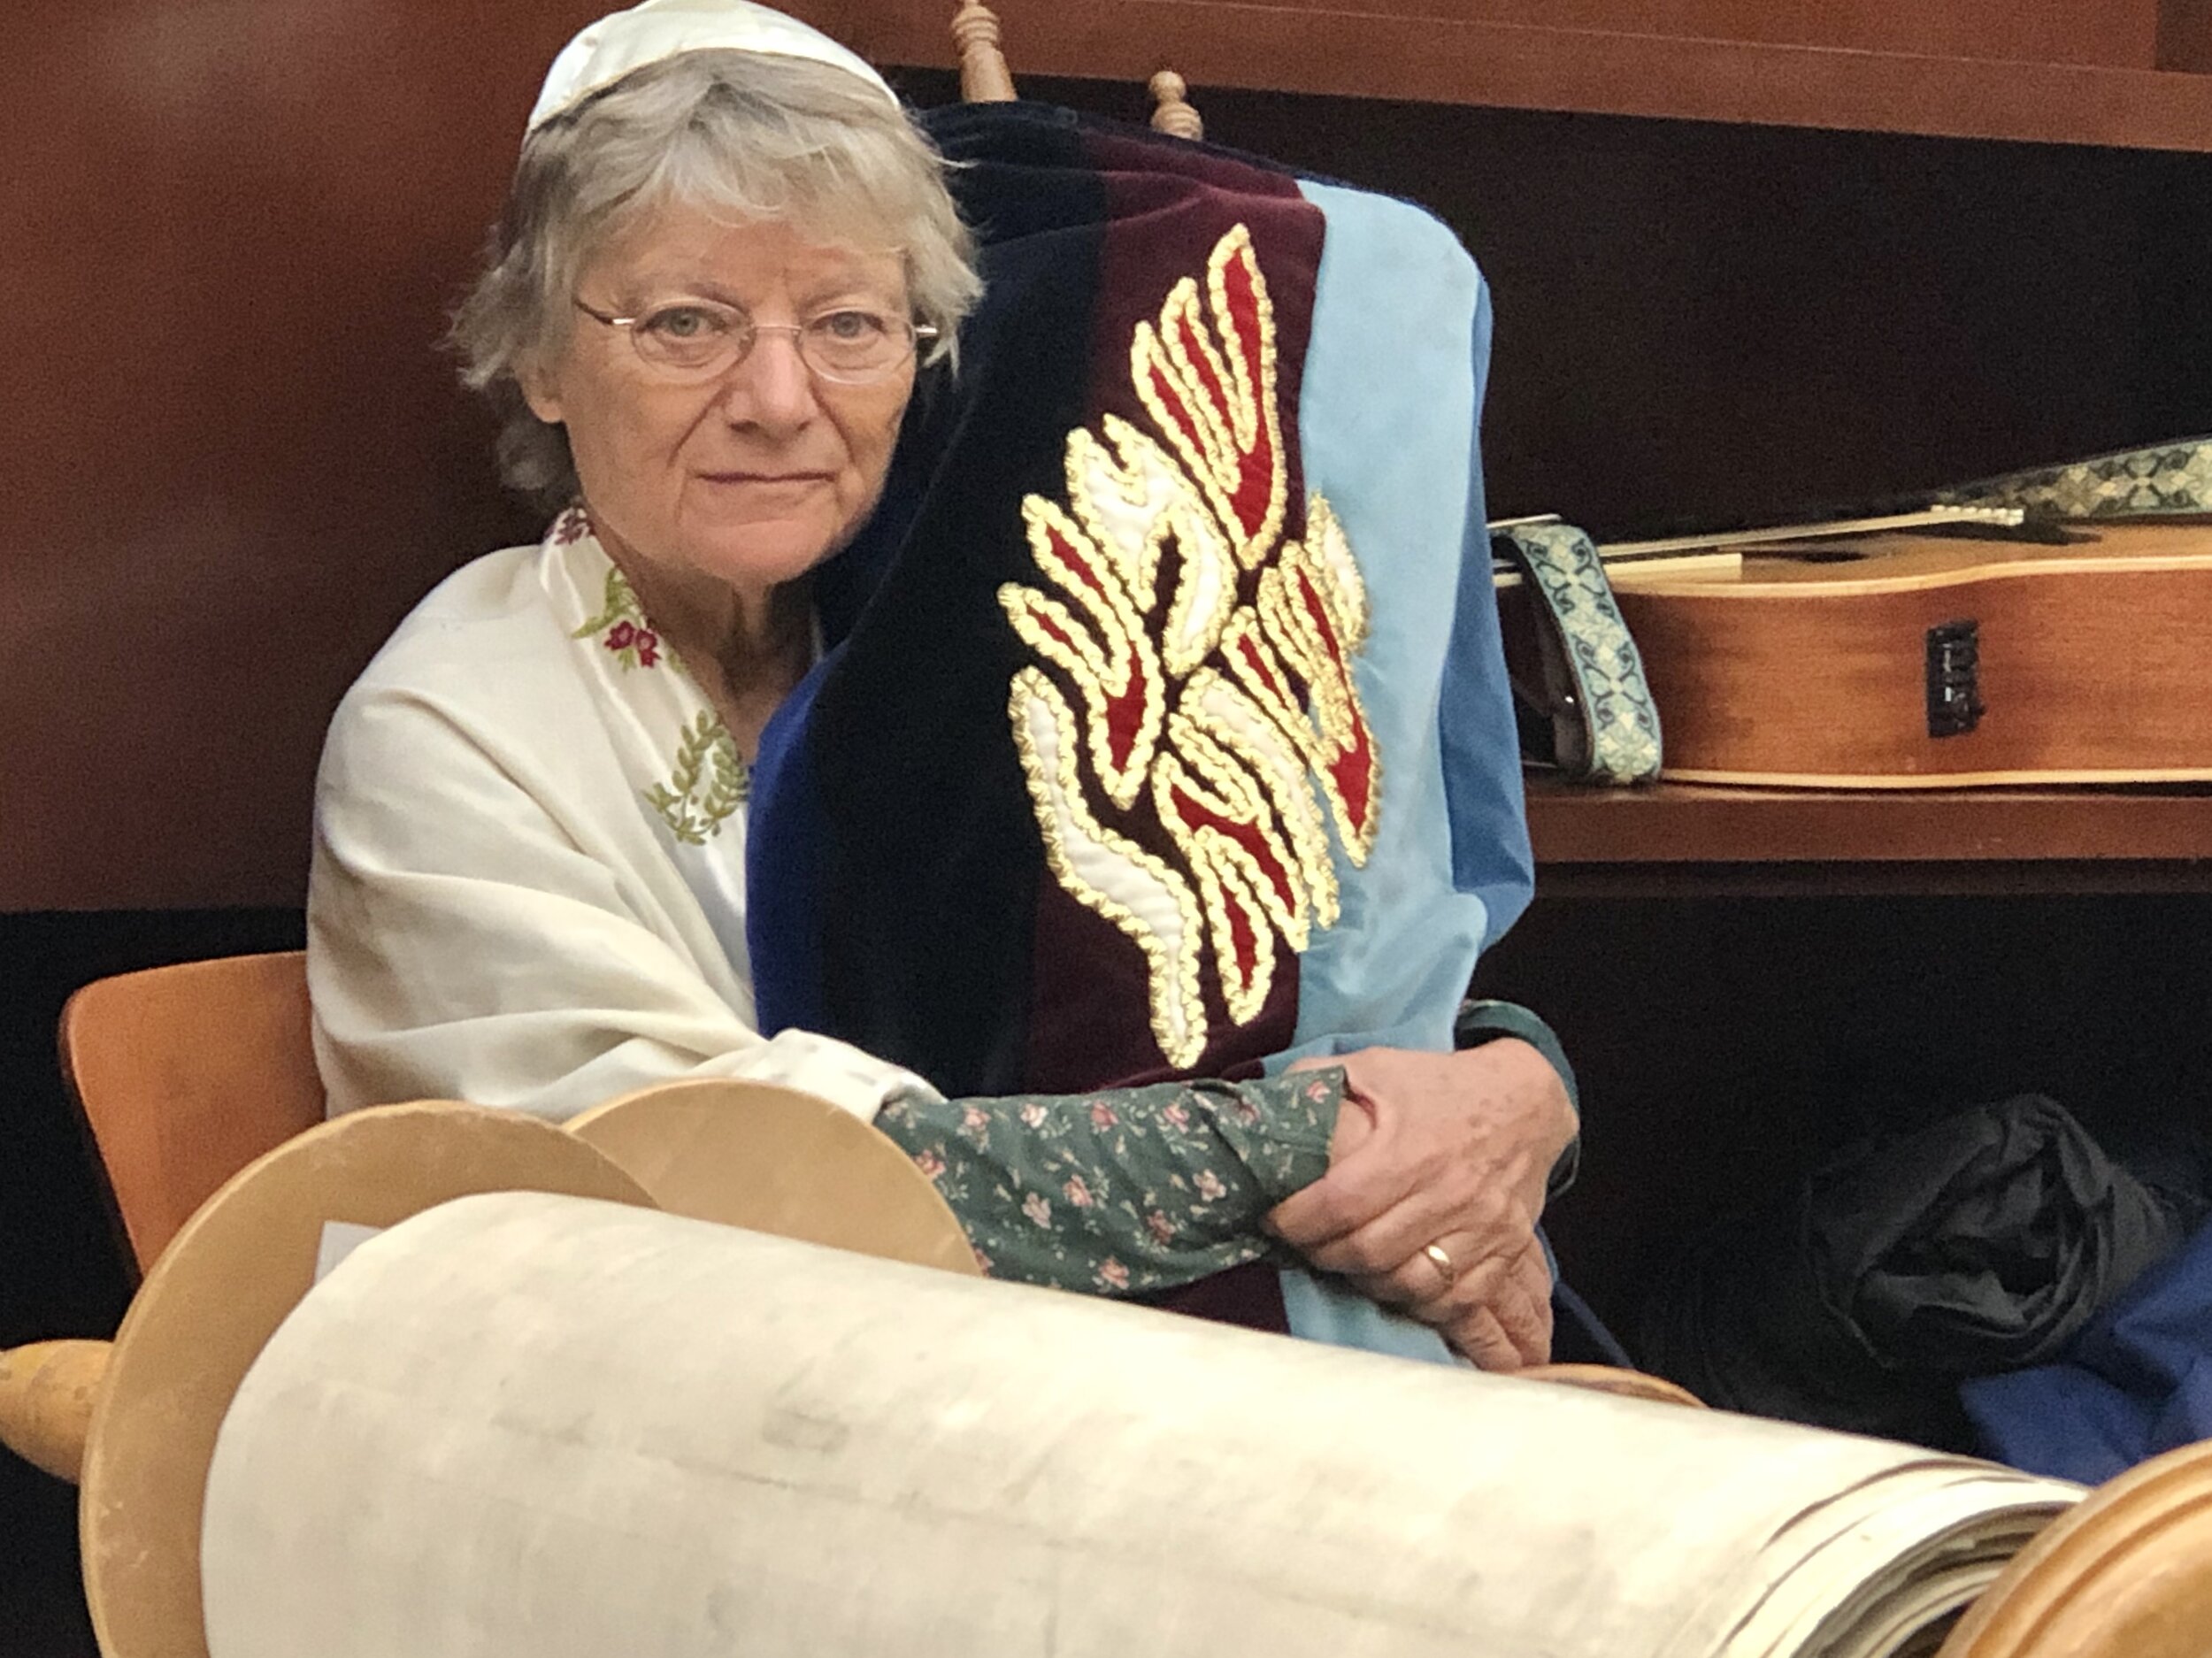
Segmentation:
<svg viewBox="0 0 2212 1658">
<path fill-rule="evenodd" d="M 323 1121 L 299 951 L 122 973 L 62 1008 L 62 1074 L 139 1271 L 232 1174 Z"/>
</svg>

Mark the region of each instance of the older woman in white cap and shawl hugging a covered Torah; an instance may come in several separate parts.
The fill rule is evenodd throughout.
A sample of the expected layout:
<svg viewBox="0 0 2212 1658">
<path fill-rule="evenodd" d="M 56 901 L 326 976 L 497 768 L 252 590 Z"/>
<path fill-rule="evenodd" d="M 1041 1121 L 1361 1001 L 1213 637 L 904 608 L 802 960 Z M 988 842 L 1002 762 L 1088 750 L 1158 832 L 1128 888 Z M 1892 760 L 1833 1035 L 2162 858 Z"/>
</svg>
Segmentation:
<svg viewBox="0 0 2212 1658">
<path fill-rule="evenodd" d="M 1290 1245 L 1484 1366 L 1542 1360 L 1533 1227 L 1575 1119 L 1528 1041 L 947 1101 L 757 1028 L 752 763 L 823 652 L 814 575 L 878 508 L 978 292 L 942 161 L 834 42 L 648 0 L 562 53 L 456 325 L 507 480 L 560 511 L 431 592 L 332 723 L 332 1110 L 562 1119 L 677 1077 L 787 1083 L 905 1145 L 998 1273 L 1164 1291 Z"/>
</svg>

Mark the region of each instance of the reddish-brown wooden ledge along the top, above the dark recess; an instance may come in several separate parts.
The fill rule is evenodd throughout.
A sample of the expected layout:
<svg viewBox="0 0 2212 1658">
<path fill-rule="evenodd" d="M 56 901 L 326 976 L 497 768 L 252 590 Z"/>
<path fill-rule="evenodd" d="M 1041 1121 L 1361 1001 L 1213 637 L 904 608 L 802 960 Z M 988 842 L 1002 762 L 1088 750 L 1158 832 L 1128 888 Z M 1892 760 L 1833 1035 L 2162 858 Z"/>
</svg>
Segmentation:
<svg viewBox="0 0 2212 1658">
<path fill-rule="evenodd" d="M 1358 9 L 1360 4 L 1369 9 Z M 1239 86 L 1867 133 L 2212 150 L 2212 75 L 1422 15 L 1444 0 L 993 0 L 1015 80 Z M 940 0 L 801 9 L 883 64 L 953 62 Z M 1464 11 L 1464 7 L 1460 7 Z M 1584 11 L 1590 11 L 1588 7 Z M 2194 57 L 2192 57 L 2194 60 Z M 1203 108 L 1203 97 L 1199 99 Z"/>
</svg>

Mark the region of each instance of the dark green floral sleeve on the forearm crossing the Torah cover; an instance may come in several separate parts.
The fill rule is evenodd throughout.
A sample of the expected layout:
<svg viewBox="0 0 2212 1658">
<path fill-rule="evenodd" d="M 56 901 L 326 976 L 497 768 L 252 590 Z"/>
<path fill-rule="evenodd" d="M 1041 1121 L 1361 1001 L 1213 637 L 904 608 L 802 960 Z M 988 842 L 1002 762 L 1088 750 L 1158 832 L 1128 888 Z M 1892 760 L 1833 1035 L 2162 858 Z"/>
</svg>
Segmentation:
<svg viewBox="0 0 2212 1658">
<path fill-rule="evenodd" d="M 1329 1167 L 1345 1072 L 1102 1094 L 896 1101 L 876 1116 L 993 1278 L 1175 1289 L 1270 1253 L 1276 1203 Z"/>
</svg>

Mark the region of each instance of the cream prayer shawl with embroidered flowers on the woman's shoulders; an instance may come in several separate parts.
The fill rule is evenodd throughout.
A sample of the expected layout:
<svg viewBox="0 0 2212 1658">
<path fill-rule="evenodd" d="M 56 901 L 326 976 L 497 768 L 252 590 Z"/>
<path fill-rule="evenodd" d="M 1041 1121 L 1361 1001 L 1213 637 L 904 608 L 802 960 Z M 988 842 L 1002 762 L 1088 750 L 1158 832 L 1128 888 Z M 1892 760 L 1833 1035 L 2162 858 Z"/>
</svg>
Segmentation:
<svg viewBox="0 0 2212 1658">
<path fill-rule="evenodd" d="M 745 785 L 721 718 L 580 511 L 440 584 L 338 705 L 307 988 L 332 1114 L 467 1099 L 566 1119 L 757 1077 L 872 1119 L 914 1072 L 759 1032 Z"/>
</svg>

